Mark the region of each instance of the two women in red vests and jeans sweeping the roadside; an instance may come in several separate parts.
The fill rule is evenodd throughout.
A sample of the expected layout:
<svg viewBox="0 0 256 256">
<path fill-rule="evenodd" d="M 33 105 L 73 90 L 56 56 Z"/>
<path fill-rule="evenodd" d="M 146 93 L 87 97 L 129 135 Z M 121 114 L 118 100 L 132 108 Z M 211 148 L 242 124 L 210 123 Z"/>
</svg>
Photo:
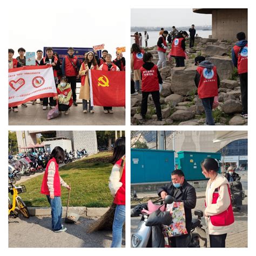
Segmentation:
<svg viewBox="0 0 256 256">
<path fill-rule="evenodd" d="M 109 188 L 114 198 L 113 203 L 116 204 L 111 247 L 122 246 L 122 231 L 125 222 L 125 162 L 122 170 L 120 167 L 124 157 L 125 137 L 120 137 L 114 144 L 113 156 L 110 159 L 113 167 L 109 178 Z M 62 225 L 61 186 L 66 187 L 68 190 L 71 190 L 71 187 L 65 183 L 59 173 L 59 164 L 63 163 L 64 159 L 65 151 L 62 147 L 56 146 L 50 154 L 41 185 L 41 193 L 45 194 L 51 206 L 51 228 L 56 233 L 67 230 Z"/>
</svg>

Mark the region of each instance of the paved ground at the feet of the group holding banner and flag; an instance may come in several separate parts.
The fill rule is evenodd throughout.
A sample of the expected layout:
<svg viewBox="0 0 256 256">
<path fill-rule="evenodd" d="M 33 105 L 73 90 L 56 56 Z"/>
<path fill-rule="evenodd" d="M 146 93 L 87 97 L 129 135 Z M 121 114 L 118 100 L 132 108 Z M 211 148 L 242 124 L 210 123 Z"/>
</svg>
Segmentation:
<svg viewBox="0 0 256 256">
<path fill-rule="evenodd" d="M 37 100 L 39 102 L 39 100 Z M 82 104 L 71 106 L 69 114 L 64 112 L 57 118 L 48 120 L 48 110 L 42 105 L 27 104 L 28 107 L 18 106 L 18 112 L 9 112 L 9 125 L 125 125 L 125 108 L 113 107 L 113 114 L 103 113 L 103 107 L 95 106 L 95 113 L 83 113 Z"/>
</svg>

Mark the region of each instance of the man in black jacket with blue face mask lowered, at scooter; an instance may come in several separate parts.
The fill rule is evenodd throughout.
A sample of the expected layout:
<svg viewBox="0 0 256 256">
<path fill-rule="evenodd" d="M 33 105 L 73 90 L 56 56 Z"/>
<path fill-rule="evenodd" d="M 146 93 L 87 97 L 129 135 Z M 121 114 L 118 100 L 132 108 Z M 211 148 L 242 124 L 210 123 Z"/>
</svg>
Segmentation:
<svg viewBox="0 0 256 256">
<path fill-rule="evenodd" d="M 171 174 L 172 182 L 158 190 L 158 196 L 165 198 L 167 195 L 173 197 L 174 202 L 183 202 L 185 208 L 186 230 L 188 234 L 172 237 L 172 247 L 188 247 L 190 244 L 190 230 L 192 221 L 192 209 L 196 207 L 197 195 L 193 186 L 188 184 L 181 170 L 174 170 Z"/>
</svg>

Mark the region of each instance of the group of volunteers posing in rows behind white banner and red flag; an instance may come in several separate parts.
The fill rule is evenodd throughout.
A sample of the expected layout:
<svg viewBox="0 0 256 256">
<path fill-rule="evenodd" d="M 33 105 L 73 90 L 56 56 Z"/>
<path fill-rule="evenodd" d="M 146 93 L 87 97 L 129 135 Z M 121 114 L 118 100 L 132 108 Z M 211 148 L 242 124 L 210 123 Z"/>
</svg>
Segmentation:
<svg viewBox="0 0 256 256">
<path fill-rule="evenodd" d="M 9 49 L 9 69 L 19 68 L 26 65 L 25 49 L 19 48 L 19 56 L 15 59 L 14 50 Z M 112 56 L 107 50 L 102 51 L 102 57 L 99 58 L 97 51 L 89 51 L 84 53 L 82 63 L 79 62 L 77 56 L 74 54 L 75 50 L 70 47 L 68 54 L 60 61 L 58 53 L 53 52 L 51 47 L 46 48 L 46 55 L 43 57 L 43 51 L 36 52 L 36 65 L 51 65 L 53 69 L 53 76 L 58 96 L 41 98 L 40 103 L 43 105 L 43 110 L 54 109 L 56 100 L 58 100 L 59 113 L 62 111 L 69 114 L 70 107 L 77 106 L 76 83 L 77 79 L 81 79 L 81 88 L 79 99 L 83 101 L 83 113 L 94 113 L 93 106 L 90 100 L 90 82 L 89 70 L 104 70 L 104 71 L 125 71 L 125 58 L 122 53 L 116 52 L 116 59 L 112 60 Z M 36 100 L 32 101 L 32 105 L 36 104 Z M 27 107 L 27 104 L 22 104 Z M 18 106 L 12 107 L 14 112 L 18 112 Z M 11 108 L 9 108 L 9 112 Z M 103 107 L 104 113 L 113 113 L 111 106 Z"/>
</svg>

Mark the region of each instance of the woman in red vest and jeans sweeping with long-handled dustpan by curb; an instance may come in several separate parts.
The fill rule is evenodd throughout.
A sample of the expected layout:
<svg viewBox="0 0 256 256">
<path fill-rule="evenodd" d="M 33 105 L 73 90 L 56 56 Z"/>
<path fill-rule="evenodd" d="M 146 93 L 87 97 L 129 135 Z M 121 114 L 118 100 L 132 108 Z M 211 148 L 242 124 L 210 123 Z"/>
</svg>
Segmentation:
<svg viewBox="0 0 256 256">
<path fill-rule="evenodd" d="M 45 194 L 51 205 L 51 225 L 54 232 L 64 232 L 66 227 L 62 225 L 62 200 L 60 185 L 71 190 L 71 187 L 59 176 L 59 164 L 65 159 L 62 147 L 56 146 L 46 165 L 41 186 L 41 194 Z"/>
</svg>

